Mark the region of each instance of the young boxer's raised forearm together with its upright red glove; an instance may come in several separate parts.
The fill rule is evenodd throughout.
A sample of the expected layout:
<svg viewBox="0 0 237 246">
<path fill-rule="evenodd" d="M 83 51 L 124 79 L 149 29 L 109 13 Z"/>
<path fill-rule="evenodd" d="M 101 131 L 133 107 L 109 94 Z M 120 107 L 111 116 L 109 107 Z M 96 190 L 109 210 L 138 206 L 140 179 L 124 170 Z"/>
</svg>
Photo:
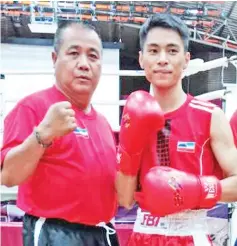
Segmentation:
<svg viewBox="0 0 237 246">
<path fill-rule="evenodd" d="M 128 97 L 119 133 L 119 171 L 115 182 L 118 201 L 125 208 L 131 208 L 134 203 L 143 151 L 164 122 L 160 106 L 148 92 L 136 91 Z"/>
</svg>

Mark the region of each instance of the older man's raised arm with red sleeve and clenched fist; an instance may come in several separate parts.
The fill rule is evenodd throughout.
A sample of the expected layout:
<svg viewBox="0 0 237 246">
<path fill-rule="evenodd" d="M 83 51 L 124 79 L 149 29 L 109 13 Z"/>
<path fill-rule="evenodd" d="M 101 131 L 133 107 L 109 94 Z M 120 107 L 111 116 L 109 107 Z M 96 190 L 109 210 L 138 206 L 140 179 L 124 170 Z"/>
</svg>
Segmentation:
<svg viewBox="0 0 237 246">
<path fill-rule="evenodd" d="M 41 143 L 49 144 L 55 137 L 72 132 L 77 127 L 74 115 L 69 102 L 51 105 L 37 126 Z M 45 150 L 32 133 L 36 125 L 34 111 L 24 106 L 16 107 L 5 120 L 1 150 L 3 185 L 19 185 L 36 169 Z"/>
</svg>

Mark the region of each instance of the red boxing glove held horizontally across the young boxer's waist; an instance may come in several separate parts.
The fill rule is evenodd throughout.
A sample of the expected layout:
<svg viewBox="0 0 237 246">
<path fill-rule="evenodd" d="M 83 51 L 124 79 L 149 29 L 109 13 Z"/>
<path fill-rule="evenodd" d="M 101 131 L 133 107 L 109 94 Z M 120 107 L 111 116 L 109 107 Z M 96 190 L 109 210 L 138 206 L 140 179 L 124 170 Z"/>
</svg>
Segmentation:
<svg viewBox="0 0 237 246">
<path fill-rule="evenodd" d="M 142 192 L 135 194 L 140 207 L 156 216 L 211 208 L 220 197 L 221 184 L 216 177 L 200 177 L 162 166 L 150 169 L 144 178 Z"/>
</svg>

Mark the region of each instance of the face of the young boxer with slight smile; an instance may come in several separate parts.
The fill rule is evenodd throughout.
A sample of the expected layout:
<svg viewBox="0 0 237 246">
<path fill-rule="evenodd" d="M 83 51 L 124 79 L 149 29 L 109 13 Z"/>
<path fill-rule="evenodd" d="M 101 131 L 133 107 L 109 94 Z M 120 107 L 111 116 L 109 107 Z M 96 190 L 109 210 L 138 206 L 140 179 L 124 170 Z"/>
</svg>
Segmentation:
<svg viewBox="0 0 237 246">
<path fill-rule="evenodd" d="M 147 80 L 157 88 L 169 88 L 181 81 L 190 54 L 184 51 L 179 34 L 171 29 L 156 27 L 148 32 L 139 62 Z"/>
</svg>

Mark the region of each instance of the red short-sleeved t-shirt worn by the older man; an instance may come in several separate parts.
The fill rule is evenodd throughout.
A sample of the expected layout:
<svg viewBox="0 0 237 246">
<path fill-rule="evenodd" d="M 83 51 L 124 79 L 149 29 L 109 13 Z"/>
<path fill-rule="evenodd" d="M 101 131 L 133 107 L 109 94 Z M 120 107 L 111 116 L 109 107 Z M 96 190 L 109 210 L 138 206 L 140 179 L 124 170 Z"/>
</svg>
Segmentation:
<svg viewBox="0 0 237 246">
<path fill-rule="evenodd" d="M 67 98 L 55 86 L 21 100 L 5 118 L 1 163 L 45 116 Z M 26 213 L 95 225 L 109 222 L 117 208 L 116 145 L 105 117 L 75 106 L 78 128 L 46 149 L 34 174 L 19 186 L 17 205 Z"/>
</svg>

